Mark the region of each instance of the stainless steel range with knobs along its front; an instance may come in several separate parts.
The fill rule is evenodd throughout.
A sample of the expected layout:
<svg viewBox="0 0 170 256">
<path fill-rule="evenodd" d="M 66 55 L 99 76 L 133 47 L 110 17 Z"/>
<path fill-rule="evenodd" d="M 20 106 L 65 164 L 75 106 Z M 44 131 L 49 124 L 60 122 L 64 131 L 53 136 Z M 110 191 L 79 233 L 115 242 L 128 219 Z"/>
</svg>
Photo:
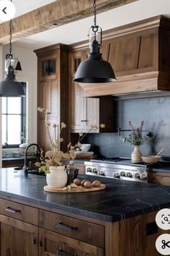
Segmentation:
<svg viewBox="0 0 170 256">
<path fill-rule="evenodd" d="M 134 182 L 147 182 L 148 166 L 131 163 L 128 159 L 113 158 L 107 160 L 86 161 L 86 174 L 115 179 L 126 179 Z"/>
</svg>

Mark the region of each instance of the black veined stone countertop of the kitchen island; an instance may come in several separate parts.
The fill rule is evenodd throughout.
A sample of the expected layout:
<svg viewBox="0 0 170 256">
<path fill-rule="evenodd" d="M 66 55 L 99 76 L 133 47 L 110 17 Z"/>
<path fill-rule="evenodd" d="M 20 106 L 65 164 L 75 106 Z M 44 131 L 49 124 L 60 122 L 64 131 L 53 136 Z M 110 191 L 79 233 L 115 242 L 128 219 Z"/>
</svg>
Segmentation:
<svg viewBox="0 0 170 256">
<path fill-rule="evenodd" d="M 95 179 L 92 176 L 79 178 Z M 33 202 L 39 207 L 44 205 L 112 222 L 170 207 L 170 187 L 118 179 L 99 179 L 107 185 L 105 190 L 51 193 L 43 190 L 45 176 L 28 174 L 26 177 L 22 171 L 14 171 L 14 168 L 1 168 L 0 197 Z"/>
</svg>

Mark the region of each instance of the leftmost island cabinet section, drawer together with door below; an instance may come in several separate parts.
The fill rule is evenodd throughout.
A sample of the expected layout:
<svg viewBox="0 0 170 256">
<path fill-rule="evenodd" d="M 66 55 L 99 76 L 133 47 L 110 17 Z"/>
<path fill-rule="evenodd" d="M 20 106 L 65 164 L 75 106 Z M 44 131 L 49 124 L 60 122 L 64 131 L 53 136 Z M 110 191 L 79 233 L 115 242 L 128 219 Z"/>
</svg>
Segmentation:
<svg viewBox="0 0 170 256">
<path fill-rule="evenodd" d="M 0 201 L 0 255 L 38 256 L 38 210 Z"/>
</svg>

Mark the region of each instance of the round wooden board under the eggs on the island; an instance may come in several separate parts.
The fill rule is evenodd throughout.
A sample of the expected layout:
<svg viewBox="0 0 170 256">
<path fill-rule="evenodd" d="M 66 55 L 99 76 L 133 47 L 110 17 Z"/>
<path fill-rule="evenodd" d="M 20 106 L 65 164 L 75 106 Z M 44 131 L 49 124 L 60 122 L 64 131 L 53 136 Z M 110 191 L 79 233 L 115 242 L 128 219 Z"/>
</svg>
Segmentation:
<svg viewBox="0 0 170 256">
<path fill-rule="evenodd" d="M 44 190 L 47 192 L 54 192 L 54 193 L 76 193 L 76 192 L 92 192 L 92 191 L 98 191 L 103 190 L 106 188 L 106 185 L 101 184 L 99 187 L 91 187 L 89 189 L 86 189 L 86 187 L 71 187 L 70 190 L 64 189 L 63 187 L 49 187 L 48 185 L 44 187 Z"/>
</svg>

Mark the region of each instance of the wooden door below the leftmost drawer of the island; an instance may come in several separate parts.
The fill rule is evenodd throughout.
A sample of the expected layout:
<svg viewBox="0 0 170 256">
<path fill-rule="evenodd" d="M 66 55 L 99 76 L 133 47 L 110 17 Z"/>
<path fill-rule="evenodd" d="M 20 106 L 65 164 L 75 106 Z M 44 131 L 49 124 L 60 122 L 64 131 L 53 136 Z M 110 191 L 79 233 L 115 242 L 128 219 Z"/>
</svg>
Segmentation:
<svg viewBox="0 0 170 256">
<path fill-rule="evenodd" d="M 38 256 L 38 228 L 0 215 L 0 255 Z"/>
</svg>

